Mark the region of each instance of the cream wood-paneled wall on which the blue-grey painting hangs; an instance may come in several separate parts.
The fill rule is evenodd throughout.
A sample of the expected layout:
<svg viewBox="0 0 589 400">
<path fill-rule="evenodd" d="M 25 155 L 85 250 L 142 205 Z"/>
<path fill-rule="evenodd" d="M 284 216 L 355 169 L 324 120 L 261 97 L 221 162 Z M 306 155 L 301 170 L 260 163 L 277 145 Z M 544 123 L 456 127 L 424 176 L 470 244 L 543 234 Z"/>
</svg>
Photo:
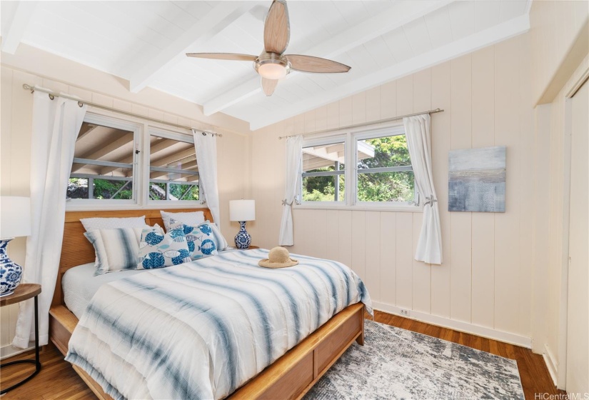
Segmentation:
<svg viewBox="0 0 589 400">
<path fill-rule="evenodd" d="M 335 128 L 440 107 L 432 158 L 444 263 L 415 261 L 421 212 L 295 209 L 293 253 L 341 261 L 376 307 L 530 345 L 533 116 L 529 36 L 522 35 L 255 131 L 253 243 L 276 246 L 285 134 Z M 448 212 L 448 151 L 507 146 L 504 214 Z M 505 334 L 508 334 L 505 336 Z"/>
</svg>

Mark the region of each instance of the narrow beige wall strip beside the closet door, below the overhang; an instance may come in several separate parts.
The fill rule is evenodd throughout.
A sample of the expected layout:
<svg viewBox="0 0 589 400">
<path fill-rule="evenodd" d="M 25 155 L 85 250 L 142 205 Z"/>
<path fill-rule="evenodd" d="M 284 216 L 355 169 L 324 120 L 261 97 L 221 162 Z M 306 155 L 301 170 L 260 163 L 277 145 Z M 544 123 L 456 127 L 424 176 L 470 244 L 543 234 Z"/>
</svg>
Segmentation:
<svg viewBox="0 0 589 400">
<path fill-rule="evenodd" d="M 589 49 L 588 49 L 589 51 Z M 568 264 L 568 201 L 570 179 L 570 89 L 589 70 L 589 56 L 578 65 L 550 104 L 535 110 L 535 224 L 533 282 L 534 351 L 545 354 L 550 373 L 564 388 L 558 366 L 565 355 L 563 301 Z"/>
</svg>

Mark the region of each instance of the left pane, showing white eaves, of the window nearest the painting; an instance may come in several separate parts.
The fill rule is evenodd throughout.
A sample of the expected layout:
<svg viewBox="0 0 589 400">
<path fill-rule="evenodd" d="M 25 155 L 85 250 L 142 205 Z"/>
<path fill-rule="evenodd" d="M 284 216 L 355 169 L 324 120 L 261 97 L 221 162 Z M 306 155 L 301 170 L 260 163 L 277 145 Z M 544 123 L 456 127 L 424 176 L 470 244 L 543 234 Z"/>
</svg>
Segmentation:
<svg viewBox="0 0 589 400">
<path fill-rule="evenodd" d="M 303 201 L 344 201 L 345 154 L 343 141 L 303 148 Z"/>
</svg>

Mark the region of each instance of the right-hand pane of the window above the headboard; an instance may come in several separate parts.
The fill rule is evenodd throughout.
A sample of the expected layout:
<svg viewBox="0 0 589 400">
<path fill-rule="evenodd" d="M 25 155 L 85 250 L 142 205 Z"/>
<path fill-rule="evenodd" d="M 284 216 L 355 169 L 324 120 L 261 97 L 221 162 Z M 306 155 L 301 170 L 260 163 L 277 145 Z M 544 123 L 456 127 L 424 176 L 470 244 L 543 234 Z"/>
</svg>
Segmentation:
<svg viewBox="0 0 589 400">
<path fill-rule="evenodd" d="M 189 141 L 151 136 L 149 163 L 149 199 L 199 199 L 194 144 Z"/>
</svg>

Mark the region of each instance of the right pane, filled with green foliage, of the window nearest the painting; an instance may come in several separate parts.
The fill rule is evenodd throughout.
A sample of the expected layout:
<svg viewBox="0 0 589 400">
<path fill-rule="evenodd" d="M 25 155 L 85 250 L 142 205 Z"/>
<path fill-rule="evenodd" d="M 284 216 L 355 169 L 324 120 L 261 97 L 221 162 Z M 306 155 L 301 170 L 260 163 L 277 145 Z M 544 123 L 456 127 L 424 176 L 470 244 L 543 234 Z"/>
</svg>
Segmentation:
<svg viewBox="0 0 589 400">
<path fill-rule="evenodd" d="M 404 134 L 362 139 L 357 144 L 358 201 L 415 199 L 415 181 Z"/>
</svg>

